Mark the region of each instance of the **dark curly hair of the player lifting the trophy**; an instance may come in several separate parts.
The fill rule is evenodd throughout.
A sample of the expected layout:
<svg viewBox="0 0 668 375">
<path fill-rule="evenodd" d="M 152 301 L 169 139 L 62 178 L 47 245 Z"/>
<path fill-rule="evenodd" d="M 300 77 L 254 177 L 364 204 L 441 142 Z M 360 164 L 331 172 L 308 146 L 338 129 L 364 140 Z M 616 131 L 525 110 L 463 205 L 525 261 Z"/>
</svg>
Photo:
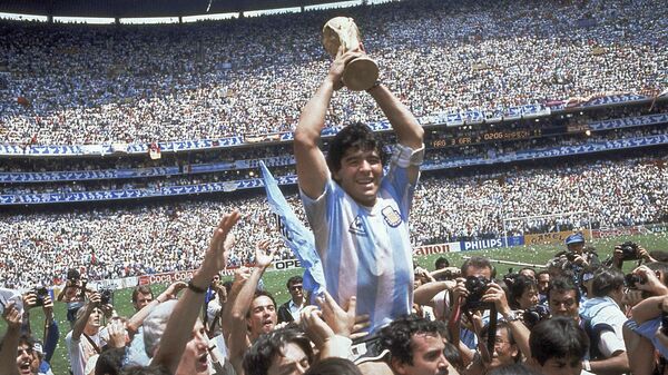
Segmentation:
<svg viewBox="0 0 668 375">
<path fill-rule="evenodd" d="M 382 142 L 376 139 L 373 130 L 362 122 L 351 124 L 341 129 L 330 142 L 327 152 L 327 167 L 330 171 L 335 172 L 341 169 L 341 159 L 348 149 L 361 149 L 363 151 L 376 150 L 383 164 L 385 155 Z"/>
</svg>

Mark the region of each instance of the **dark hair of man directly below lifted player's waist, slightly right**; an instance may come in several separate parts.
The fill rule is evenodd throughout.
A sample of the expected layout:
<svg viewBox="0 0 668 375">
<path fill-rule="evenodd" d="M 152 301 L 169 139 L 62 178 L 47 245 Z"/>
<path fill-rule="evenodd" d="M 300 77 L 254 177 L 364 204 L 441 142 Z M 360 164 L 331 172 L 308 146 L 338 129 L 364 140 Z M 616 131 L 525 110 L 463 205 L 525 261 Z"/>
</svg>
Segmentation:
<svg viewBox="0 0 668 375">
<path fill-rule="evenodd" d="M 415 314 L 400 317 L 381 329 L 381 344 L 390 351 L 392 358 L 402 364 L 413 365 L 411 337 L 415 334 L 440 335 L 442 323 L 422 318 Z"/>
</svg>

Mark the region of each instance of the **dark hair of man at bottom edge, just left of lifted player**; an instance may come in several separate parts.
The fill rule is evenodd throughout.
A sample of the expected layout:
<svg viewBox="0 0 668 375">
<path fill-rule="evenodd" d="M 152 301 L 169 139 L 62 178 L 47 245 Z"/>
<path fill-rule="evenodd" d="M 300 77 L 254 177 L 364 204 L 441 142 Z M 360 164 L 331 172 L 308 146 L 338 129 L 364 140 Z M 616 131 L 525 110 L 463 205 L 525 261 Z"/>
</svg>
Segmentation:
<svg viewBox="0 0 668 375">
<path fill-rule="evenodd" d="M 243 363 L 246 375 L 267 375 L 272 362 L 276 356 L 284 355 L 283 351 L 287 344 L 299 346 L 306 354 L 308 363 L 313 363 L 311 341 L 295 325 L 291 325 L 259 336 L 248 348 Z"/>
</svg>

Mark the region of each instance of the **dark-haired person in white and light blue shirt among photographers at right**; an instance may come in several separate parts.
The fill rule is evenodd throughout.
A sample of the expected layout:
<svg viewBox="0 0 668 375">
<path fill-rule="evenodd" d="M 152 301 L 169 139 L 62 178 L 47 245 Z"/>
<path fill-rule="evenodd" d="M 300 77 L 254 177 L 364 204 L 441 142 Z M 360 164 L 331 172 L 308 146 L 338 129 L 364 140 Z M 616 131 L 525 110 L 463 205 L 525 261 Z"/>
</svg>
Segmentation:
<svg viewBox="0 0 668 375">
<path fill-rule="evenodd" d="M 589 336 L 589 361 L 586 371 L 626 374 L 629 371 L 622 327 L 623 274 L 615 268 L 601 268 L 591 284 L 591 297 L 580 306 L 580 317 Z"/>
</svg>

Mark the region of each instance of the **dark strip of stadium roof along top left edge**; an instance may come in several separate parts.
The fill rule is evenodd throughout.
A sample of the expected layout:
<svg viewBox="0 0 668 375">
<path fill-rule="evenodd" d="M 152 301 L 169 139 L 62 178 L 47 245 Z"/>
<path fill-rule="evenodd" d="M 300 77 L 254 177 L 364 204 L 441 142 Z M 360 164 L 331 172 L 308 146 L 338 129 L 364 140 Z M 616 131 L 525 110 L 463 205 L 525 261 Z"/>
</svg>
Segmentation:
<svg viewBox="0 0 668 375">
<path fill-rule="evenodd" d="M 341 0 L 0 0 L 0 12 L 91 18 L 179 17 L 282 9 Z"/>
</svg>

